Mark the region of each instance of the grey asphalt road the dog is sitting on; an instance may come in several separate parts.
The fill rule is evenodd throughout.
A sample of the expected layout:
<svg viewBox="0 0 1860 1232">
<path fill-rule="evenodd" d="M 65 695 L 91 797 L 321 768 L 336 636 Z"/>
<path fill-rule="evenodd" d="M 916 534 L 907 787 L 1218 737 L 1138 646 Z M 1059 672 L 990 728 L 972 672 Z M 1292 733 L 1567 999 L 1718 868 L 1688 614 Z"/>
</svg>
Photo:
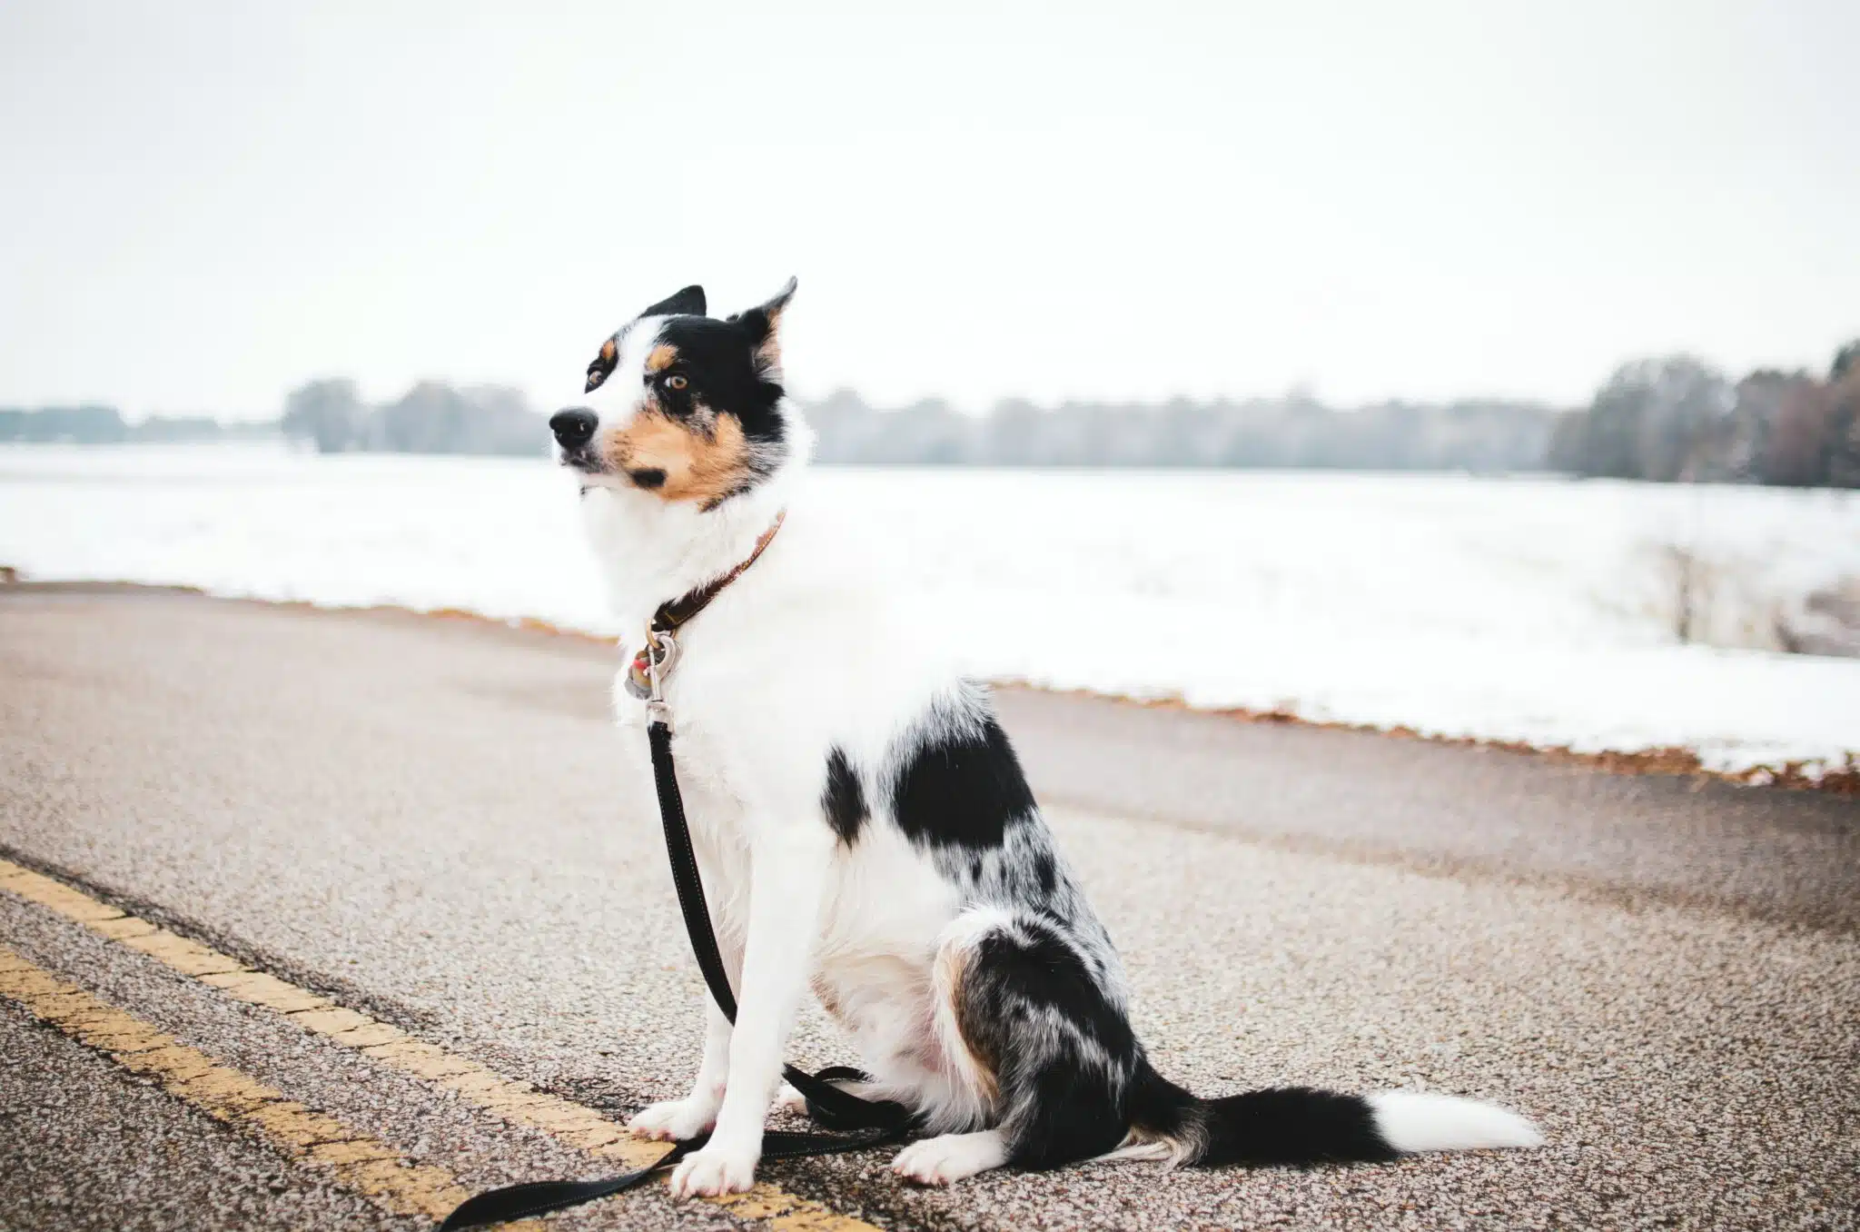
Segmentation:
<svg viewBox="0 0 1860 1232">
<path fill-rule="evenodd" d="M 610 670 L 471 622 L 0 588 L 0 856 L 623 1115 L 683 1089 L 699 984 Z M 1860 802 L 1017 690 L 1003 711 L 1162 1072 L 1477 1094 L 1549 1145 L 949 1191 L 859 1154 L 768 1165 L 783 1191 L 884 1228 L 1860 1226 Z M 0 942 L 465 1187 L 601 1171 L 4 890 Z M 844 1055 L 811 1016 L 796 1059 Z M 640 1193 L 551 1226 L 746 1213 Z M 0 1228 L 210 1226 L 424 1221 L 0 996 Z"/>
</svg>

